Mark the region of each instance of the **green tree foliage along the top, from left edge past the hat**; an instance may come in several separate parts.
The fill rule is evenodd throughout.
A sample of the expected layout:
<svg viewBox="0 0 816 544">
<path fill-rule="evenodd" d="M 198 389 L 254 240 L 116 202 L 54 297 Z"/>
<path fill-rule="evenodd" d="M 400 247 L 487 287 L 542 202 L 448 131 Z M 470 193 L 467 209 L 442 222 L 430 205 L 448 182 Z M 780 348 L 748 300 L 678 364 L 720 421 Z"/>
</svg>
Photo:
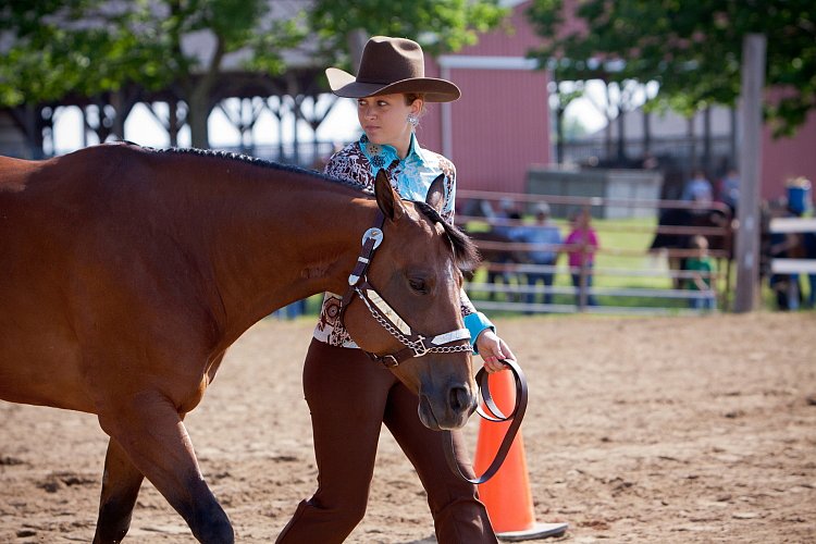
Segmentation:
<svg viewBox="0 0 816 544">
<path fill-rule="evenodd" d="M 311 7 L 311 13 L 300 10 Z M 193 145 L 208 145 L 207 118 L 223 60 L 280 74 L 282 52 L 307 37 L 316 63 L 344 63 L 354 33 L 406 36 L 430 53 L 456 50 L 499 24 L 498 0 L 7 0 L 0 5 L 0 108 L 94 97 L 135 84 L 171 89 L 187 104 Z M 187 39 L 206 33 L 211 50 Z"/>
</svg>

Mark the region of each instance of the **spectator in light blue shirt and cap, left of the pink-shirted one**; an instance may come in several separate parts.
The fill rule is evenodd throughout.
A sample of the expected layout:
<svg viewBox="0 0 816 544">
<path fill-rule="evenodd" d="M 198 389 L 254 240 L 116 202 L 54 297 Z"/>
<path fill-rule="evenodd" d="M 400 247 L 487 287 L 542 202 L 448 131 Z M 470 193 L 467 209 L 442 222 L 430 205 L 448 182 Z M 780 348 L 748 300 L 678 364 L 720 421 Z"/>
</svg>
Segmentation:
<svg viewBox="0 0 816 544">
<path fill-rule="evenodd" d="M 519 236 L 520 242 L 528 244 L 539 244 L 541 247 L 530 251 L 530 262 L 542 270 L 530 271 L 527 273 L 527 285 L 530 290 L 527 294 L 527 304 L 535 301 L 534 287 L 542 282 L 544 284 L 544 304 L 553 304 L 553 279 L 555 277 L 554 267 L 558 259 L 558 251 L 561 244 L 561 233 L 558 226 L 549 222 L 549 206 L 546 202 L 540 202 L 535 207 L 535 223 L 523 228 Z M 544 269 L 551 267 L 551 269 Z"/>
</svg>

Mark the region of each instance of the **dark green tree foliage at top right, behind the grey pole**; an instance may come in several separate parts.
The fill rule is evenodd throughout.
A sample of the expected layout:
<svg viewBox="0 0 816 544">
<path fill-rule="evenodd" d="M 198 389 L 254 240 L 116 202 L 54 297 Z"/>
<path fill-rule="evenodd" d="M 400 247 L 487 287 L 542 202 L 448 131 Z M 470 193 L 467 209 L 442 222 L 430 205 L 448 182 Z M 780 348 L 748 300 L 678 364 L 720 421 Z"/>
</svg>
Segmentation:
<svg viewBox="0 0 816 544">
<path fill-rule="evenodd" d="M 556 78 L 657 82 L 653 108 L 684 114 L 740 96 L 742 38 L 768 39 L 766 115 L 790 135 L 816 108 L 813 0 L 533 0 L 545 45 L 531 57 Z M 551 38 L 555 36 L 555 38 Z"/>
</svg>

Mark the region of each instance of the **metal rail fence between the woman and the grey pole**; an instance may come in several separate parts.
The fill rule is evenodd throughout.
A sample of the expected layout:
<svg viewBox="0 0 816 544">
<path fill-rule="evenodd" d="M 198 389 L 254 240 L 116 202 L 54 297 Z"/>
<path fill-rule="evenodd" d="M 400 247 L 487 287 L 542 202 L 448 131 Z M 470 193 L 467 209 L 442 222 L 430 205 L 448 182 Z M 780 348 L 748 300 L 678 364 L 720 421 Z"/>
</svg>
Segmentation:
<svg viewBox="0 0 816 544">
<path fill-rule="evenodd" d="M 676 200 L 621 200 L 599 197 L 561 197 L 528 194 L 499 194 L 459 190 L 457 224 L 474 237 L 484 262 L 466 286 L 480 309 L 517 313 L 701 313 L 726 310 L 731 287 L 732 217 L 728 207 L 713 202 L 704 208 Z M 512 202 L 520 218 L 489 217 L 482 210 Z M 633 220 L 593 220 L 599 238 L 592 267 L 570 267 L 569 254 L 589 252 L 581 244 L 555 245 L 524 242 L 524 230 L 536 228 L 531 219 L 536 206 L 546 202 L 551 209 L 574 214 L 591 213 L 593 208 L 608 206 L 638 207 L 651 211 L 650 218 Z M 553 206 L 560 205 L 560 206 Z M 666 218 L 680 215 L 687 224 L 670 224 Z M 650 213 L 646 213 L 648 215 Z M 641 214 L 643 215 L 643 214 Z M 716 218 L 716 219 L 712 219 Z M 564 217 L 555 218 L 562 226 Z M 484 236 L 483 233 L 509 233 Z M 562 232 L 562 234 L 565 234 Z M 689 270 L 684 263 L 700 256 L 688 247 L 693 236 L 710 244 L 707 257 L 715 261 L 712 272 Z M 665 247 L 654 243 L 670 240 Z M 621 244 L 621 242 L 623 242 Z M 555 264 L 534 264 L 524 256 L 531 251 L 557 251 Z M 483 271 L 482 271 L 483 270 Z M 551 285 L 532 284 L 531 274 L 554 274 Z M 490 280 L 490 281 L 489 281 Z M 689 288 L 691 283 L 707 288 Z M 549 301 L 540 301 L 549 300 Z M 712 309 L 701 300 L 712 300 Z"/>
</svg>

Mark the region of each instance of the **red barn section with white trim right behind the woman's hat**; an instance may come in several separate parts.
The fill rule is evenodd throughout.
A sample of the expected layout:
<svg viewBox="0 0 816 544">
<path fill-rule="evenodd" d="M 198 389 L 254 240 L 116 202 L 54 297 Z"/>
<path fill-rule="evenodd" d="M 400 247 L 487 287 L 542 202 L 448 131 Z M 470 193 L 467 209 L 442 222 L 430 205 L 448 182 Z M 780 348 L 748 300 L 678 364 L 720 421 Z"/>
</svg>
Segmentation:
<svg viewBox="0 0 816 544">
<path fill-rule="evenodd" d="M 456 163 L 465 189 L 523 193 L 528 166 L 551 162 L 547 76 L 526 58 L 539 38 L 524 18 L 529 2 L 508 3 L 511 34 L 494 30 L 426 61 L 426 75 L 455 82 L 462 96 L 431 104 L 418 136 Z"/>
</svg>

